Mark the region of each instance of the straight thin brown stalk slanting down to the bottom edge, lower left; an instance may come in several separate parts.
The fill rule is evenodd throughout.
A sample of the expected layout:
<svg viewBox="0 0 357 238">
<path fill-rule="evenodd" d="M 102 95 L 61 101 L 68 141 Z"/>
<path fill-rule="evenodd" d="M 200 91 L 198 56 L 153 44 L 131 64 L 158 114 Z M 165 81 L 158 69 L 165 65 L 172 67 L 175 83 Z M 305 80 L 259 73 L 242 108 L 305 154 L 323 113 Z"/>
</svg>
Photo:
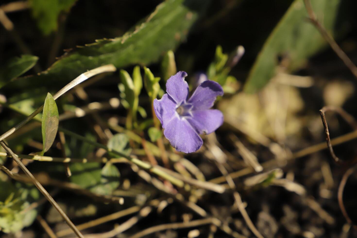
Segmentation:
<svg viewBox="0 0 357 238">
<path fill-rule="evenodd" d="M 19 167 L 24 171 L 24 173 L 30 177 L 31 181 L 35 184 L 35 186 L 40 190 L 40 192 L 47 198 L 47 200 L 56 208 L 56 210 L 61 214 L 62 218 L 66 221 L 66 223 L 72 228 L 72 230 L 75 232 L 77 237 L 83 238 L 84 236 L 82 233 L 76 228 L 76 226 L 72 223 L 72 221 L 69 219 L 69 217 L 66 215 L 66 213 L 61 209 L 61 207 L 56 203 L 56 201 L 51 197 L 51 195 L 46 191 L 44 187 L 37 181 L 37 179 L 32 175 L 32 173 L 22 164 L 20 159 L 17 157 L 17 155 L 14 154 L 14 152 L 11 151 L 9 147 L 5 144 L 4 141 L 0 141 L 0 145 L 4 147 L 4 149 L 11 155 L 11 157 L 14 159 L 14 161 L 19 165 Z"/>
</svg>

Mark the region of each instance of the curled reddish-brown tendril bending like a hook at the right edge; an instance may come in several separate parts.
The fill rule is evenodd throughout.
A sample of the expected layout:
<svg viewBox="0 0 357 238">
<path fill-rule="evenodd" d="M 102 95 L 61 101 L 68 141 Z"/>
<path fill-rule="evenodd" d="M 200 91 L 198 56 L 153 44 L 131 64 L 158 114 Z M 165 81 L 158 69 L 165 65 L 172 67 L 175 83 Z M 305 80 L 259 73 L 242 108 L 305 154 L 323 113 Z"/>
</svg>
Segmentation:
<svg viewBox="0 0 357 238">
<path fill-rule="evenodd" d="M 331 139 L 330 139 L 330 132 L 328 131 L 328 125 L 327 125 L 327 121 L 326 121 L 326 116 L 325 116 L 325 112 L 327 111 L 336 111 L 337 113 L 339 113 L 343 119 L 345 119 L 354 129 L 357 128 L 357 123 L 354 120 L 354 118 L 348 114 L 345 110 L 343 110 L 342 108 L 337 108 L 337 107 L 323 107 L 319 112 L 321 115 L 321 120 L 323 123 L 323 128 L 325 129 L 325 134 L 326 134 L 326 142 L 327 142 L 327 147 L 328 150 L 330 151 L 330 154 L 333 158 L 333 160 L 338 163 L 338 164 L 351 164 L 354 161 L 342 161 L 341 159 L 339 159 L 335 152 L 333 151 L 332 148 L 332 143 L 331 143 Z"/>
</svg>

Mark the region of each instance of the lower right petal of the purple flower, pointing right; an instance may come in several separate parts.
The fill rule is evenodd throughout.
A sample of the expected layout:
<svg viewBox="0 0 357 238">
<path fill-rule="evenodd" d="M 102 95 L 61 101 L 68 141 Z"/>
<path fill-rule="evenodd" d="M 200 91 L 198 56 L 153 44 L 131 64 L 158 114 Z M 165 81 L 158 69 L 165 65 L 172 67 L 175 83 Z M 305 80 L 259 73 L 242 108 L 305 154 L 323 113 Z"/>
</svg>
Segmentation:
<svg viewBox="0 0 357 238">
<path fill-rule="evenodd" d="M 198 134 L 209 134 L 223 124 L 223 114 L 220 110 L 198 110 L 191 113 L 192 117 L 187 117 L 187 121 Z"/>
</svg>

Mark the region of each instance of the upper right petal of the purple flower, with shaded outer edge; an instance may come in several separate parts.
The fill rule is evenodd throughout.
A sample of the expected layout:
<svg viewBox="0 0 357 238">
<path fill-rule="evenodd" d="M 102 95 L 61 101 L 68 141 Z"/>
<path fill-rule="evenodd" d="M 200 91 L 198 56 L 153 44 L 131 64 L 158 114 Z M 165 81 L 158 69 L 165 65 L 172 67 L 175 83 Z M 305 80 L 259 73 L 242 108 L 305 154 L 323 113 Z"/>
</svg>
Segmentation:
<svg viewBox="0 0 357 238">
<path fill-rule="evenodd" d="M 206 110 L 213 106 L 217 96 L 223 95 L 223 88 L 215 81 L 207 80 L 201 83 L 187 101 L 193 104 L 192 110 Z"/>
</svg>

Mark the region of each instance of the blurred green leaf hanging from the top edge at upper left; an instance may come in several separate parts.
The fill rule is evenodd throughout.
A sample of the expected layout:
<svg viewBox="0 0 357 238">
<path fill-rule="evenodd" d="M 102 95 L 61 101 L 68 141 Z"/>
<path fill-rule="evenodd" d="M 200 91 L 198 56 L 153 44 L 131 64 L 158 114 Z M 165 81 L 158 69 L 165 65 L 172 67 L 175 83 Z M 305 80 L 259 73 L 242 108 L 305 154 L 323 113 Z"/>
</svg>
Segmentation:
<svg viewBox="0 0 357 238">
<path fill-rule="evenodd" d="M 76 0 L 30 0 L 32 16 L 44 35 L 56 31 L 58 16 L 61 11 L 68 11 Z"/>
</svg>

